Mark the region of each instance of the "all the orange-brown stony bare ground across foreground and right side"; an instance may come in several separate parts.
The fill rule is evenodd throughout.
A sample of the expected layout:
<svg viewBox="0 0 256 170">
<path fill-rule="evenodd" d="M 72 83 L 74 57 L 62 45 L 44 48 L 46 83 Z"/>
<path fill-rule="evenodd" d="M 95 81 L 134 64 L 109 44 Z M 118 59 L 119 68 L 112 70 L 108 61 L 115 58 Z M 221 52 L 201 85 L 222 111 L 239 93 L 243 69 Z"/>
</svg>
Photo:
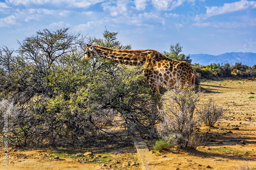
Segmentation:
<svg viewBox="0 0 256 170">
<path fill-rule="evenodd" d="M 204 80 L 201 87 L 205 93 L 197 108 L 212 98 L 223 107 L 225 115 L 214 128 L 201 127 L 199 132 L 205 140 L 197 150 L 170 150 L 148 154 L 152 169 L 236 169 L 242 164 L 256 167 L 256 82 L 243 80 Z M 254 92 L 255 94 L 252 94 Z M 195 112 L 196 116 L 196 112 Z M 232 133 L 226 133 L 228 131 Z M 244 141 L 245 144 L 240 142 Z M 153 148 L 154 140 L 147 140 Z M 117 150 L 117 149 L 115 149 Z M 52 151 L 64 149 L 23 150 L 9 148 L 8 166 L 4 165 L 4 150 L 1 148 L 0 169 L 141 169 L 135 149 L 130 146 L 126 152 L 110 151 L 108 166 L 101 166 L 101 159 L 84 163 L 72 157 L 54 159 Z M 89 152 L 89 151 L 77 151 Z M 97 156 L 97 151 L 94 156 Z M 93 160 L 88 159 L 89 161 Z M 118 163 L 118 162 L 120 163 Z M 140 165 L 122 166 L 123 162 L 137 161 Z M 112 167 L 110 167 L 110 165 Z M 115 167 L 116 166 L 116 167 Z M 208 166 L 208 167 L 207 167 Z"/>
</svg>

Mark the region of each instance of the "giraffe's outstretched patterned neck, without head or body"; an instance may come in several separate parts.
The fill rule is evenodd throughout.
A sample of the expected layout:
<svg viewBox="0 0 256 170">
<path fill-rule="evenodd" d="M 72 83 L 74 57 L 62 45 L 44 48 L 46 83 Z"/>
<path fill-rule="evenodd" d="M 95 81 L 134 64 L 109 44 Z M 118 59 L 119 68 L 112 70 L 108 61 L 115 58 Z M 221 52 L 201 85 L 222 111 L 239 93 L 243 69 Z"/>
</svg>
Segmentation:
<svg viewBox="0 0 256 170">
<path fill-rule="evenodd" d="M 153 50 L 132 51 L 132 50 L 113 50 L 102 46 L 94 46 L 98 55 L 105 59 L 110 59 L 116 63 L 126 65 L 144 65 L 148 54 Z"/>
</svg>

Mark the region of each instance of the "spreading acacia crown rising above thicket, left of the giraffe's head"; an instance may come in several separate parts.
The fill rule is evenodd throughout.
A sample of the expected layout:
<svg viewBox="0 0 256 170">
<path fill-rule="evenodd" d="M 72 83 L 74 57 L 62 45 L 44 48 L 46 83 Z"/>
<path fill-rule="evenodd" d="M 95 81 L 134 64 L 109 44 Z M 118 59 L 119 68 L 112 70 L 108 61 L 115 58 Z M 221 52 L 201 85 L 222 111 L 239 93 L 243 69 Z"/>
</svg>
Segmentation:
<svg viewBox="0 0 256 170">
<path fill-rule="evenodd" d="M 27 37 L 22 42 L 18 41 L 18 52 L 36 65 L 51 67 L 54 62 L 58 63 L 63 55 L 71 53 L 84 41 L 80 33 L 69 34 L 68 30 L 69 28 L 38 31 L 35 36 Z"/>
</svg>

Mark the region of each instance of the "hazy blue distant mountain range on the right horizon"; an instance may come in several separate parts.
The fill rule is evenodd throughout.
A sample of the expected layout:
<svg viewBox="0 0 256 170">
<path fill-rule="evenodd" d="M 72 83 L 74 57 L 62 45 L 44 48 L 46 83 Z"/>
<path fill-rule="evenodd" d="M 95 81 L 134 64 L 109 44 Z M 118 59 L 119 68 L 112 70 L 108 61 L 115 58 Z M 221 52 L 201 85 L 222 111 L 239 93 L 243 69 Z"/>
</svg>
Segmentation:
<svg viewBox="0 0 256 170">
<path fill-rule="evenodd" d="M 234 65 L 236 62 L 242 62 L 247 66 L 256 64 L 256 53 L 225 53 L 218 56 L 208 54 L 192 54 L 190 55 L 192 63 L 199 63 L 201 65 L 209 65 L 211 63 L 229 63 Z"/>
</svg>

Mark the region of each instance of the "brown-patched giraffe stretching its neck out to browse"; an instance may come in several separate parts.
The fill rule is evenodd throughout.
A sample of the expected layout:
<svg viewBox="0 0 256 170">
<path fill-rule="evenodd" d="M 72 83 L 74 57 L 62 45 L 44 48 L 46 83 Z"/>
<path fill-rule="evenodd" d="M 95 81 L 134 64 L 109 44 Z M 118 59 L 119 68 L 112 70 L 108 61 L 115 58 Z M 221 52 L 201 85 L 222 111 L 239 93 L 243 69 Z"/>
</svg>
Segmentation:
<svg viewBox="0 0 256 170">
<path fill-rule="evenodd" d="M 120 64 L 143 66 L 144 76 L 151 90 L 157 93 L 158 100 L 161 99 L 159 89 L 164 89 L 163 84 L 169 88 L 172 88 L 177 81 L 181 85 L 187 83 L 188 86 L 193 86 L 195 84 L 195 72 L 189 63 L 166 58 L 156 50 L 114 50 L 87 44 L 83 58 L 92 59 L 95 56 Z M 193 116 L 193 113 L 191 114 Z M 152 137 L 153 134 L 154 123 L 152 123 L 149 136 Z"/>
</svg>

